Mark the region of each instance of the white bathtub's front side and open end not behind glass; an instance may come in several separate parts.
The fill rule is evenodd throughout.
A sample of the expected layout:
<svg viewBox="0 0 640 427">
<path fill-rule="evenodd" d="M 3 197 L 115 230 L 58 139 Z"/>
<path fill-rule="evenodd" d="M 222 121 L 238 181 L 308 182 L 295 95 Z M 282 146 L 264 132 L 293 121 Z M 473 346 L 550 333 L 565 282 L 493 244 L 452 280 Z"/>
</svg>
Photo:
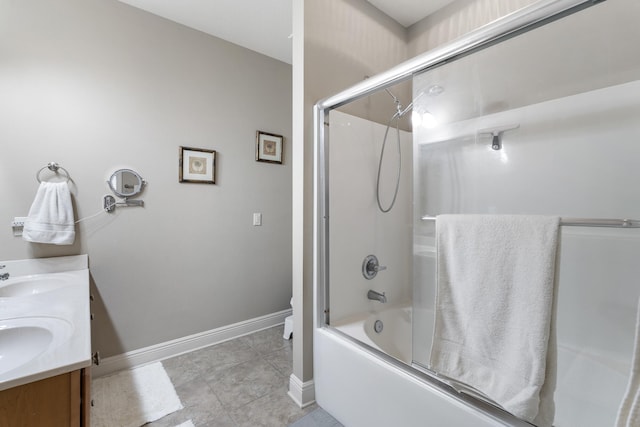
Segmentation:
<svg viewBox="0 0 640 427">
<path fill-rule="evenodd" d="M 531 426 L 411 367 L 412 315 L 389 306 L 315 328 L 318 404 L 348 427 Z"/>
</svg>

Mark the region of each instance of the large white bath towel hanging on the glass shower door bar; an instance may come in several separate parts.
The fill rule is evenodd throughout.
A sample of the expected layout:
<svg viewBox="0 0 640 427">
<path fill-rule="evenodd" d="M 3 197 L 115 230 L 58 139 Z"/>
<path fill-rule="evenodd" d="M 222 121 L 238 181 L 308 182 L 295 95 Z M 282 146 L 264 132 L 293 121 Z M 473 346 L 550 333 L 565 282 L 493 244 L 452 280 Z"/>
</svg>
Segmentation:
<svg viewBox="0 0 640 427">
<path fill-rule="evenodd" d="M 537 426 L 555 413 L 558 217 L 441 215 L 431 368 Z"/>
</svg>

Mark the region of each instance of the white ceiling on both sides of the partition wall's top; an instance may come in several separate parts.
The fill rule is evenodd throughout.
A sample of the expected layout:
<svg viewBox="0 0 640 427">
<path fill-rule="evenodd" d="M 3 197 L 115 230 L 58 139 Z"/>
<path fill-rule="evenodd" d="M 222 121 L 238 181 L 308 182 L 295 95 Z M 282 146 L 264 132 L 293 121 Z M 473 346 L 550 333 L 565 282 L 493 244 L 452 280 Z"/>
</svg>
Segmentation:
<svg viewBox="0 0 640 427">
<path fill-rule="evenodd" d="M 120 1 L 291 64 L 291 5 L 299 0 Z M 408 27 L 453 0 L 367 1 Z"/>
</svg>

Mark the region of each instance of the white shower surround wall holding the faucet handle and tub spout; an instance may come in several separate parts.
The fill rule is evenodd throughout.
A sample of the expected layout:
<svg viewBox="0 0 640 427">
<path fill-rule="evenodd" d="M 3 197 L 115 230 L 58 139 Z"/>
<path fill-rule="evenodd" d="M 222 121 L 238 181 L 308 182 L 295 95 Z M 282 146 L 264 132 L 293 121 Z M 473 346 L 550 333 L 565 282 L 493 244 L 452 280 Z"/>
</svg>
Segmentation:
<svg viewBox="0 0 640 427">
<path fill-rule="evenodd" d="M 389 114 L 393 103 L 389 98 Z M 380 309 L 367 299 L 369 289 L 385 292 L 386 304 L 411 301 L 412 135 L 400 131 L 402 167 L 394 207 L 382 213 L 376 203 L 376 178 L 386 125 L 339 111 L 330 116 L 330 281 L 331 321 Z M 397 134 L 387 135 L 380 177 L 380 198 L 387 208 L 393 198 L 397 173 Z M 376 255 L 387 269 L 368 280 L 362 262 Z"/>
</svg>

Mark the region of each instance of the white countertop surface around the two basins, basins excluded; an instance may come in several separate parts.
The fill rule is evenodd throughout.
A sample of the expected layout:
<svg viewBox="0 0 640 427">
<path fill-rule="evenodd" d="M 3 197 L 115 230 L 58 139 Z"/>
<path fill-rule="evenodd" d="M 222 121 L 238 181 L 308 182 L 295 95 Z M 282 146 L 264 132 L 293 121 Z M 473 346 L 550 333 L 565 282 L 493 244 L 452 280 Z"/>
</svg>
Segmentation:
<svg viewBox="0 0 640 427">
<path fill-rule="evenodd" d="M 54 334 L 42 353 L 11 370 L 3 372 L 0 357 L 0 390 L 91 366 L 87 255 L 0 261 L 0 265 L 5 265 L 0 273 L 11 275 L 0 282 L 0 330 L 39 320 L 55 322 L 63 331 Z M 38 291 L 3 296 L 3 288 L 6 291 L 21 280 L 37 283 Z"/>
</svg>

